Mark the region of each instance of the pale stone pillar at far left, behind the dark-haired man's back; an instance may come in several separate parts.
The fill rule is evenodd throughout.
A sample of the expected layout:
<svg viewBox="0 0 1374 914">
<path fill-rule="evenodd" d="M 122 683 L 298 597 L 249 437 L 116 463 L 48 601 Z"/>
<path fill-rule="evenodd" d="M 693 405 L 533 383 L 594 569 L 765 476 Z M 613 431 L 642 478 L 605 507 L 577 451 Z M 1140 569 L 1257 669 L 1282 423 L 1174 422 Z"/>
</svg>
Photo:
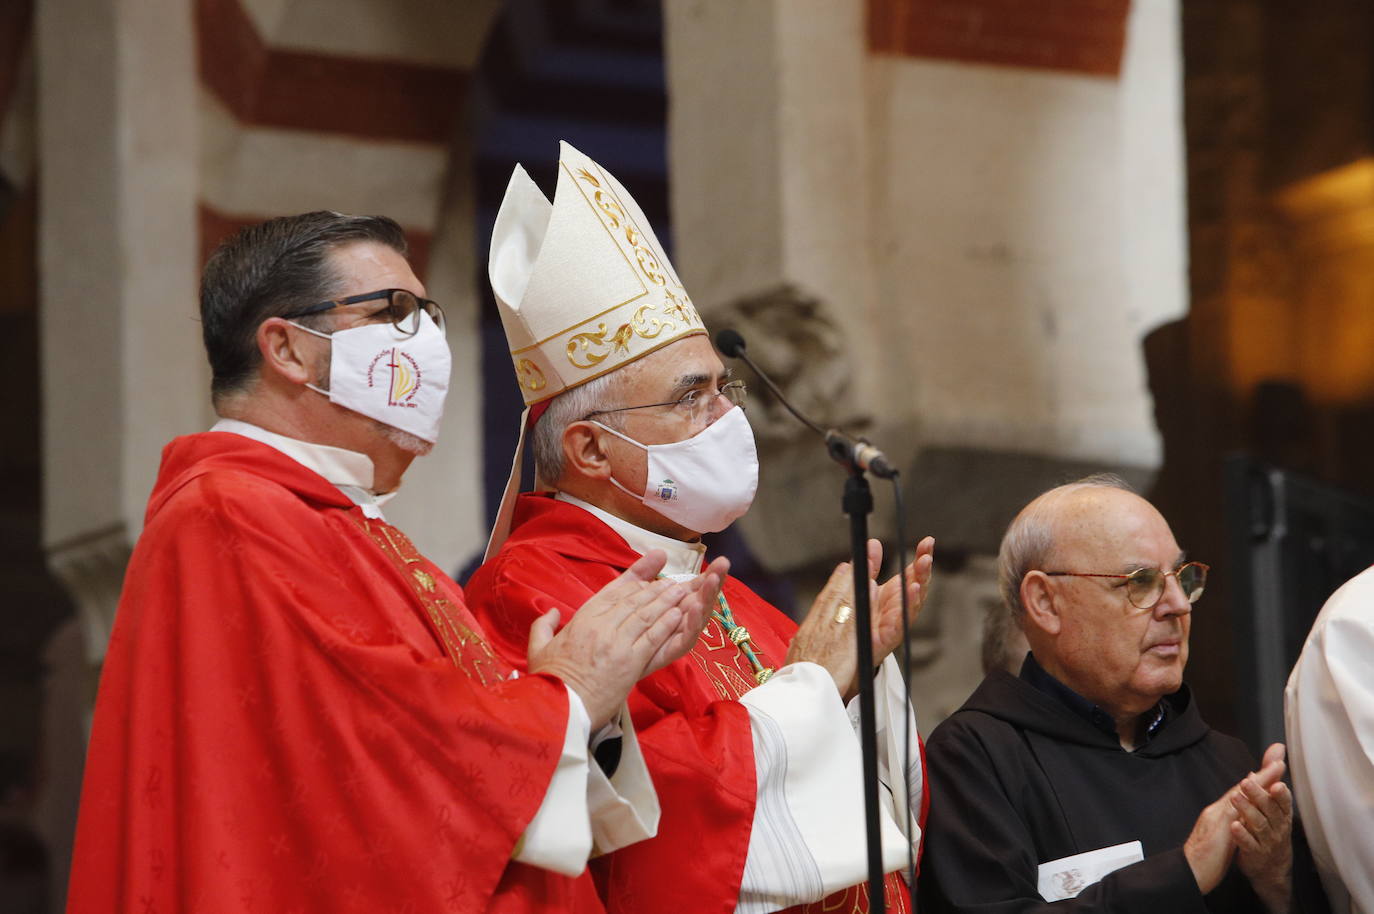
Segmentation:
<svg viewBox="0 0 1374 914">
<path fill-rule="evenodd" d="M 104 654 L 161 448 L 203 429 L 184 0 L 37 4 L 44 544 Z"/>
</svg>

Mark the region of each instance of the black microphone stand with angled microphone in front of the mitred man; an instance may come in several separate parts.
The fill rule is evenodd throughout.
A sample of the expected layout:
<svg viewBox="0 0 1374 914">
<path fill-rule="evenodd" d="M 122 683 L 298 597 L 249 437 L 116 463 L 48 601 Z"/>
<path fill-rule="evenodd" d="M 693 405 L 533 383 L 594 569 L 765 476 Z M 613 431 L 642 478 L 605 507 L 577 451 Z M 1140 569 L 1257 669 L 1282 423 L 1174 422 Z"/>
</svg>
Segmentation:
<svg viewBox="0 0 1374 914">
<path fill-rule="evenodd" d="M 849 471 L 848 478 L 845 478 L 841 509 L 849 515 L 849 551 L 855 579 L 855 638 L 859 649 L 859 746 L 863 750 L 864 823 L 868 836 L 868 911 L 870 914 L 883 914 L 888 899 L 882 884 L 882 830 L 878 818 L 878 716 L 872 693 L 872 606 L 868 599 L 868 515 L 872 513 L 872 489 L 868 488 L 864 460 L 856 452 L 855 443 L 834 429 L 822 429 L 798 412 L 782 394 L 778 385 L 772 382 L 772 378 L 764 374 L 749 357 L 743 339 L 738 339 L 738 345 L 730 345 L 724 334 L 717 341 L 720 350 L 727 356 L 742 359 L 778 397 L 778 401 L 787 408 L 787 412 L 826 438 L 826 451 L 831 459 Z M 897 575 L 905 586 L 903 569 L 899 568 Z M 903 771 L 899 777 L 907 775 Z"/>
</svg>

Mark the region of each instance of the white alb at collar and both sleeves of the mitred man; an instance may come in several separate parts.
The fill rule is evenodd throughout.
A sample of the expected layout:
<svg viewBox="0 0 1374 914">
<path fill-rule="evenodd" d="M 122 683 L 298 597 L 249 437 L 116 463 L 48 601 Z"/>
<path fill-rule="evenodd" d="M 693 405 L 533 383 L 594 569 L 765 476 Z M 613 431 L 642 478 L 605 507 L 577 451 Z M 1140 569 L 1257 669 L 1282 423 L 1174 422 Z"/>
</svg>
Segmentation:
<svg viewBox="0 0 1374 914">
<path fill-rule="evenodd" d="M 595 514 L 639 554 L 668 554 L 664 576 L 686 580 L 701 568 L 705 547 L 635 526 L 595 504 L 559 492 L 561 502 Z M 907 797 L 922 794 L 916 719 L 901 669 L 888 657 L 874 678 L 883 871 L 907 869 Z M 739 700 L 749 711 L 757 793 L 749 852 L 739 885 L 739 914 L 765 914 L 813 902 L 868 878 L 863 808 L 859 700 L 849 708 L 835 683 L 812 662 L 789 664 Z M 911 767 L 903 767 L 903 722 L 911 733 Z M 837 803 L 849 793 L 852 801 Z M 921 845 L 919 808 L 911 811 L 911 848 Z"/>
</svg>

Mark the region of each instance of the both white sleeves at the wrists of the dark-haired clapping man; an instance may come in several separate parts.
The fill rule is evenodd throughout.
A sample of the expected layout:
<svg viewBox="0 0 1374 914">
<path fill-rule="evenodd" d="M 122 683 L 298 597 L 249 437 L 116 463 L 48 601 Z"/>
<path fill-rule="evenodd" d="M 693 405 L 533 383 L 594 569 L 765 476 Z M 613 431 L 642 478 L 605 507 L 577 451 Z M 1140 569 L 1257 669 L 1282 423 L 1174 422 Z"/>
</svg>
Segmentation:
<svg viewBox="0 0 1374 914">
<path fill-rule="evenodd" d="M 565 686 L 566 689 L 566 686 Z M 651 838 L 658 832 L 658 794 L 644 767 L 629 709 L 620 709 L 621 752 L 607 778 L 588 761 L 591 719 L 576 691 L 567 689 L 563 752 L 548 781 L 544 801 L 521 840 L 515 859 L 544 870 L 577 876 L 595 847 L 607 854 Z"/>
</svg>

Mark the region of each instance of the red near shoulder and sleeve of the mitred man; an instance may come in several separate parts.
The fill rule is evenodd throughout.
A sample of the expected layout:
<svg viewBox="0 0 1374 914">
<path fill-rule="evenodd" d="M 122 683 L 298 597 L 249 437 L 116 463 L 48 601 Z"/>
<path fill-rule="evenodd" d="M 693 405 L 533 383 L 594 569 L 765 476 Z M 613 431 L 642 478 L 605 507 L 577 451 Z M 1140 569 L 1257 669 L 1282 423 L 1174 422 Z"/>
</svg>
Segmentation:
<svg viewBox="0 0 1374 914">
<path fill-rule="evenodd" d="M 523 667 L 537 616 L 556 608 L 570 618 L 618 573 L 521 544 L 473 576 L 467 599 L 497 651 Z M 745 706 L 708 695 L 694 662 L 683 657 L 631 693 L 662 816 L 657 837 L 592 862 L 610 911 L 735 909 L 754 815 L 753 735 Z"/>
</svg>

